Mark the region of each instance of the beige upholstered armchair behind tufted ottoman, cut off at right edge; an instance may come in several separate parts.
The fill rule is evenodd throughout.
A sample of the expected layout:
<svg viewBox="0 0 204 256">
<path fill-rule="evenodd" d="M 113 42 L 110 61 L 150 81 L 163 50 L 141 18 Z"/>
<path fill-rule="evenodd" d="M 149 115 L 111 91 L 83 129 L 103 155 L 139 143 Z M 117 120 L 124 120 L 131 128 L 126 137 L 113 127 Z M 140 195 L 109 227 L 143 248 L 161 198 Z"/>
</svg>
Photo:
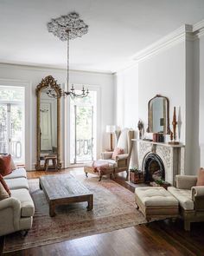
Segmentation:
<svg viewBox="0 0 204 256">
<path fill-rule="evenodd" d="M 190 230 L 190 223 L 204 221 L 204 186 L 196 186 L 197 176 L 176 175 L 176 187 L 168 190 L 180 204 L 180 213 L 185 230 Z"/>
</svg>

